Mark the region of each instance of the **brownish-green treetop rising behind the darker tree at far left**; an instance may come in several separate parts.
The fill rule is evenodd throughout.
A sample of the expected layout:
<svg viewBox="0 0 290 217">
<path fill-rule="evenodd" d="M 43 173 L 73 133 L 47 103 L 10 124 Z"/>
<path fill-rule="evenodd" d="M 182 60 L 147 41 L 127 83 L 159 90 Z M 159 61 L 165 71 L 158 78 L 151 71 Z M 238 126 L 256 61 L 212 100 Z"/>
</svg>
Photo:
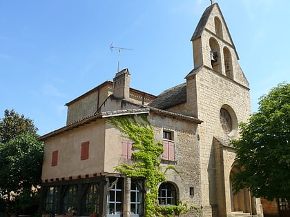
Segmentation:
<svg viewBox="0 0 290 217">
<path fill-rule="evenodd" d="M 0 143 L 8 143 L 11 138 L 23 132 L 37 132 L 33 121 L 19 115 L 14 110 L 5 110 L 4 118 L 0 121 Z"/>
</svg>

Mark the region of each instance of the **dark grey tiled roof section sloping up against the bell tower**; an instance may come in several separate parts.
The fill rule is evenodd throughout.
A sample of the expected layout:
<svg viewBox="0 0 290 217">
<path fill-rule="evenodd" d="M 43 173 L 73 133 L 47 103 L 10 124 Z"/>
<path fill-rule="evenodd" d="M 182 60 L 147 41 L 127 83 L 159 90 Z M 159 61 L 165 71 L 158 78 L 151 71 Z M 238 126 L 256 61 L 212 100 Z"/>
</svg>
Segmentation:
<svg viewBox="0 0 290 217">
<path fill-rule="evenodd" d="M 164 90 L 148 105 L 158 109 L 165 110 L 168 107 L 179 105 L 186 102 L 186 83 L 182 83 L 168 90 Z"/>
</svg>

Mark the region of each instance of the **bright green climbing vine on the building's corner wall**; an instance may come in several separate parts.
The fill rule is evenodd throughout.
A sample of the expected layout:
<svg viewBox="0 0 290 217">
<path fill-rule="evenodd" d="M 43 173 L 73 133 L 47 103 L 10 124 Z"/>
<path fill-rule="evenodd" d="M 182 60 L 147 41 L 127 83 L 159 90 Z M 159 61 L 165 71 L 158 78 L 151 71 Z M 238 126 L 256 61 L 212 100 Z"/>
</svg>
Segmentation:
<svg viewBox="0 0 290 217">
<path fill-rule="evenodd" d="M 184 214 L 189 209 L 186 203 L 180 201 L 179 205 L 158 205 L 158 185 L 166 181 L 165 172 L 174 169 L 172 166 L 160 171 L 160 155 L 164 152 L 163 144 L 154 142 L 153 126 L 145 115 L 117 116 L 110 118 L 109 123 L 115 125 L 122 132 L 124 138 L 133 141 L 135 152 L 132 153 L 133 164 L 122 163 L 115 167 L 117 171 L 131 178 L 145 178 L 148 192 L 144 198 L 144 216 L 173 216 Z"/>
</svg>

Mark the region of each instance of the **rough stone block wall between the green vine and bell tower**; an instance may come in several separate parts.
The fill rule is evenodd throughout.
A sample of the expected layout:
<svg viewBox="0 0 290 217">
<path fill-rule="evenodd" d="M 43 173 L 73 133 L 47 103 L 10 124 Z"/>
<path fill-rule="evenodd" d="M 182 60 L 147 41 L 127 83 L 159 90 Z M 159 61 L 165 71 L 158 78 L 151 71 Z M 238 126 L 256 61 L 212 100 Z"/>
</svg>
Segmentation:
<svg viewBox="0 0 290 217">
<path fill-rule="evenodd" d="M 173 133 L 175 160 L 162 160 L 162 170 L 174 165 L 177 172 L 168 170 L 166 180 L 177 187 L 178 198 L 188 205 L 201 205 L 200 151 L 197 135 L 197 123 L 182 121 L 166 116 L 151 114 L 149 120 L 154 126 L 156 141 L 163 139 L 163 130 Z M 190 192 L 191 191 L 191 192 Z"/>
</svg>

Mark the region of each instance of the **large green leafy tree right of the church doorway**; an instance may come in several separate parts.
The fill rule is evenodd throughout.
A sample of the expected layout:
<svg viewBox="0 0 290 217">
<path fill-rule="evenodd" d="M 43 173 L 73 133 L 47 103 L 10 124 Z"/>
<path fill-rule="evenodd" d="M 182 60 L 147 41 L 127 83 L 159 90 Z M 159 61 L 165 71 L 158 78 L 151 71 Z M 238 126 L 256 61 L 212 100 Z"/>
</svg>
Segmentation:
<svg viewBox="0 0 290 217">
<path fill-rule="evenodd" d="M 255 197 L 290 199 L 290 84 L 260 98 L 258 112 L 240 124 L 231 141 L 242 168 L 233 176 L 236 192 L 247 187 Z"/>
</svg>

